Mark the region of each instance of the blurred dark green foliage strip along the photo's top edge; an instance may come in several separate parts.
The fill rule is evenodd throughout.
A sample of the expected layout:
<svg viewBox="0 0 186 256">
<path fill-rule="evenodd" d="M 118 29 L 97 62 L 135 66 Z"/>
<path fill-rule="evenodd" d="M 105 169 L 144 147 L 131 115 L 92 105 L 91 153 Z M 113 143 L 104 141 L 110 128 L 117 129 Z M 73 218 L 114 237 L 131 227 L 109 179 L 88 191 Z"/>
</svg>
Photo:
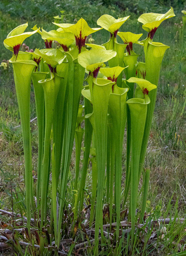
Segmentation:
<svg viewBox="0 0 186 256">
<path fill-rule="evenodd" d="M 87 22 L 95 22 L 102 14 L 117 16 L 134 13 L 154 12 L 162 13 L 170 6 L 175 11 L 184 9 L 185 0 L 1 0 L 0 11 L 9 14 L 11 17 L 19 17 L 26 20 L 51 19 L 53 16 L 60 14 L 61 10 L 65 11 L 64 22 L 72 22 L 83 16 Z"/>
</svg>

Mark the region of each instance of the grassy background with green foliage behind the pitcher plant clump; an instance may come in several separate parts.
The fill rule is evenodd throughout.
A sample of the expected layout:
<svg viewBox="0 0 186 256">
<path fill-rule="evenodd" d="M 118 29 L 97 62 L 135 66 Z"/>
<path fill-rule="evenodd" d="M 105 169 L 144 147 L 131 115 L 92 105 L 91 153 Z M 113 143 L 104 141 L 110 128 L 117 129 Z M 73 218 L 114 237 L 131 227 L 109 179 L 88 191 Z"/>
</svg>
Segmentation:
<svg viewBox="0 0 186 256">
<path fill-rule="evenodd" d="M 103 14 L 110 14 L 118 18 L 119 16 L 131 15 L 130 22 L 122 26 L 123 31 L 131 31 L 137 34 L 145 32 L 137 22 L 138 16 L 146 12 L 166 13 L 174 7 L 176 17 L 162 23 L 156 32 L 155 40 L 170 46 L 163 59 L 160 72 L 157 104 L 154 113 L 153 125 L 149 137 L 149 146 L 146 156 L 146 167 L 151 170 L 149 189 L 149 212 L 158 212 L 159 217 L 178 216 L 185 217 L 186 201 L 186 31 L 183 35 L 181 23 L 181 10 L 186 10 L 185 1 L 166 0 L 133 0 L 133 1 L 88 1 L 88 0 L 23 0 L 0 2 L 0 63 L 10 59 L 10 52 L 3 47 L 3 40 L 7 34 L 19 24 L 28 21 L 29 30 L 36 23 L 45 30 L 55 28 L 52 24 L 53 16 L 60 15 L 60 11 L 65 11 L 61 20 L 65 23 L 74 23 L 81 17 L 87 23 L 96 27 L 96 20 Z M 99 31 L 92 36 L 94 43 L 101 44 L 108 39 L 108 32 Z M 29 38 L 25 42 L 29 48 L 43 47 L 43 42 L 39 36 Z M 135 46 L 136 53 L 142 53 L 142 49 Z M 142 56 L 142 58 L 144 58 Z M 142 59 L 141 59 L 142 60 Z M 17 192 L 23 189 L 23 141 L 20 127 L 20 117 L 12 67 L 8 64 L 7 69 L 0 67 L 0 208 L 10 210 L 11 195 L 14 192 L 14 210 L 18 210 Z M 35 98 L 33 88 L 31 89 L 31 118 L 36 117 Z M 33 150 L 33 176 L 36 175 L 36 155 L 37 155 L 37 126 L 36 121 L 31 122 L 32 129 L 32 150 Z M 125 153 L 125 152 L 124 152 Z M 125 166 L 125 154 L 124 154 Z M 71 160 L 71 177 L 73 174 L 74 158 Z M 18 185 L 19 184 L 19 185 Z M 87 176 L 86 191 L 90 188 L 90 176 Z M 67 191 L 67 203 L 70 203 L 70 195 Z M 19 193 L 18 193 L 19 195 Z M 88 196 L 87 196 L 88 200 Z M 16 203 L 17 202 L 17 203 Z M 175 210 L 176 205 L 176 210 Z M 3 220 L 4 221 L 4 220 Z M 7 221 L 7 220 L 6 220 Z M 8 220 L 9 221 L 9 220 Z M 185 224 L 184 224 L 185 225 Z M 180 227 L 179 227 L 180 228 Z M 184 226 L 183 226 L 184 228 Z M 170 230 L 171 228 L 167 228 Z M 176 226 L 175 226 L 176 229 Z M 184 229 L 183 229 L 184 230 Z M 172 231 L 173 232 L 173 231 Z M 177 236 L 178 233 L 172 234 Z M 172 252 L 167 237 L 160 240 L 162 255 Z M 184 234 L 183 234 L 184 237 Z M 177 238 L 176 238 L 177 239 Z M 180 249 L 184 250 L 185 240 L 180 242 Z M 164 253 L 164 254 L 163 254 Z M 146 254 L 145 254 L 146 255 Z"/>
</svg>

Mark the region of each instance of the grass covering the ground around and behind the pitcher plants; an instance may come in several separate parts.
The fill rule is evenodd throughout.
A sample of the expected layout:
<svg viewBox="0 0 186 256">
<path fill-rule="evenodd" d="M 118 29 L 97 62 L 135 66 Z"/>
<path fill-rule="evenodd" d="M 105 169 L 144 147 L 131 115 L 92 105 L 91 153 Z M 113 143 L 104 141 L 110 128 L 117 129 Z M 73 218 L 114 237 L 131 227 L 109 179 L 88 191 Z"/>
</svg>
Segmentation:
<svg viewBox="0 0 186 256">
<path fill-rule="evenodd" d="M 105 9 L 103 9 L 105 11 Z M 109 9 L 110 14 L 114 15 L 115 9 Z M 98 12 L 98 17 L 102 15 Z M 1 13 L 2 14 L 2 13 Z M 57 14 L 56 14 L 57 15 Z M 78 16 L 70 18 L 70 14 L 67 15 L 67 21 L 73 22 L 74 19 L 78 19 Z M 87 15 L 88 16 L 88 15 Z M 90 13 L 89 19 L 93 14 Z M 24 23 L 25 20 L 18 18 L 17 16 L 12 18 L 10 15 L 2 14 L 1 30 L 0 30 L 0 48 L 1 59 L 10 59 L 10 53 L 3 48 L 2 42 L 6 38 L 8 32 L 12 28 Z M 124 31 L 132 31 L 141 33 L 141 24 L 136 25 L 136 16 L 133 17 L 133 21 L 130 22 L 130 27 L 126 23 Z M 95 26 L 95 20 L 92 20 L 89 24 Z M 157 95 L 157 104 L 155 108 L 153 125 L 151 127 L 151 133 L 149 137 L 149 146 L 147 148 L 147 156 L 145 166 L 150 168 L 150 188 L 148 195 L 148 205 L 146 212 L 149 214 L 147 223 L 138 229 L 136 233 L 136 244 L 133 248 L 132 255 L 168 255 L 174 254 L 178 251 L 185 250 L 185 221 L 177 221 L 176 218 L 185 218 L 185 198 L 186 198 L 186 115 L 185 115 L 185 97 L 186 97 L 186 44 L 180 44 L 179 36 L 177 36 L 176 22 L 180 22 L 180 16 L 172 19 L 170 22 L 164 22 L 157 30 L 156 41 L 163 42 L 171 46 L 167 50 L 163 59 L 162 69 L 160 72 L 159 88 Z M 53 18 L 48 17 L 48 22 L 45 19 L 37 20 L 39 26 L 44 26 L 44 29 L 50 30 L 54 28 L 51 24 Z M 35 21 L 30 20 L 29 27 L 33 27 Z M 166 32 L 165 32 L 166 31 Z M 99 38 L 102 34 L 102 40 L 105 42 L 108 37 L 106 31 L 98 32 L 93 35 L 95 43 L 100 42 Z M 186 36 L 186 35 L 185 35 Z M 39 38 L 39 37 L 38 37 Z M 32 40 L 32 39 L 31 39 Z M 31 40 L 27 40 L 26 43 L 30 46 Z M 103 43 L 101 42 L 101 43 Z M 184 40 L 185 42 L 185 40 Z M 32 46 L 30 48 L 42 47 L 40 39 L 35 37 Z M 142 54 L 140 46 L 134 46 L 134 51 Z M 144 57 L 141 56 L 143 61 Z M 0 204 L 1 209 L 7 211 L 14 210 L 15 213 L 25 211 L 24 205 L 24 167 L 23 167 L 23 141 L 20 127 L 20 117 L 18 111 L 18 104 L 16 101 L 16 94 L 14 88 L 14 80 L 12 75 L 12 67 L 7 70 L 3 70 L 0 67 L 0 150 L 2 152 L 0 156 L 0 168 L 1 168 L 1 181 L 0 181 Z M 31 119 L 36 117 L 35 99 L 33 88 L 31 89 Z M 32 163 L 33 163 L 33 177 L 36 177 L 36 163 L 37 163 L 37 126 L 36 121 L 31 123 L 32 130 Z M 15 128 L 16 127 L 16 128 Z M 125 152 L 123 156 L 125 166 Z M 87 174 L 86 182 L 86 207 L 82 212 L 81 219 L 77 221 L 74 230 L 71 230 L 71 224 L 73 222 L 73 209 L 71 209 L 71 197 L 73 195 L 73 177 L 74 177 L 74 154 L 71 159 L 71 174 L 68 178 L 68 187 L 66 195 L 66 205 L 69 205 L 65 215 L 66 221 L 64 221 L 64 239 L 69 239 L 64 242 L 65 250 L 72 249 L 73 253 L 69 255 L 92 255 L 92 229 L 89 229 L 88 214 L 90 209 L 88 205 L 91 201 L 91 167 Z M 123 177 L 124 179 L 124 177 Z M 140 181 L 142 185 L 142 180 Z M 12 193 L 11 193 L 12 191 Z M 12 203 L 13 199 L 13 203 Z M 140 201 L 139 201 L 140 203 Z M 113 206 L 114 207 L 114 206 Z M 104 221 L 108 218 L 107 205 L 104 207 Z M 139 215 L 139 214 L 138 214 Z M 125 216 L 126 217 L 126 216 Z M 125 221 L 125 217 L 122 218 Z M 138 216 L 139 217 L 139 216 Z M 173 218 L 168 224 L 157 224 L 150 227 L 151 220 L 157 218 Z M 14 221 L 19 216 L 14 216 Z M 113 222 L 116 220 L 113 219 Z M 9 215 L 1 216 L 1 228 L 3 225 L 14 225 L 12 217 Z M 19 223 L 20 225 L 20 223 Z M 147 228 L 149 226 L 149 228 Z M 36 228 L 36 227 L 35 227 Z M 114 228 L 112 228 L 113 231 Z M 68 233 L 66 235 L 66 233 Z M 47 232 L 45 232 L 45 235 Z M 9 235 L 7 239 L 11 238 Z M 18 240 L 25 240 L 26 231 L 22 233 L 16 233 L 15 237 Z M 116 251 L 116 245 L 113 243 L 112 232 L 109 235 L 109 239 L 105 240 L 100 248 L 100 255 L 129 255 L 132 250 L 129 248 L 129 234 L 123 229 L 120 233 L 119 252 Z M 71 239 L 75 241 L 72 244 Z M 83 241 L 88 241 L 86 245 L 81 245 Z M 35 234 L 35 243 L 37 242 L 37 236 Z M 26 247 L 24 247 L 26 249 Z M 61 248 L 61 249 L 64 249 Z M 17 249 L 18 250 L 18 249 Z M 15 246 L 16 251 L 16 246 Z M 19 251 L 19 250 L 18 250 Z M 28 248 L 28 255 L 32 255 L 32 250 Z M 35 255 L 37 255 L 37 249 L 35 249 Z M 12 251 L 11 251 L 12 253 Z M 1 255 L 1 254 L 0 254 Z M 2 255 L 6 255 L 6 251 Z M 7 255 L 10 255 L 10 251 Z M 15 254 L 16 255 L 16 254 Z M 17 252 L 17 255 L 19 253 Z M 48 254 L 49 255 L 49 254 Z"/>
</svg>

